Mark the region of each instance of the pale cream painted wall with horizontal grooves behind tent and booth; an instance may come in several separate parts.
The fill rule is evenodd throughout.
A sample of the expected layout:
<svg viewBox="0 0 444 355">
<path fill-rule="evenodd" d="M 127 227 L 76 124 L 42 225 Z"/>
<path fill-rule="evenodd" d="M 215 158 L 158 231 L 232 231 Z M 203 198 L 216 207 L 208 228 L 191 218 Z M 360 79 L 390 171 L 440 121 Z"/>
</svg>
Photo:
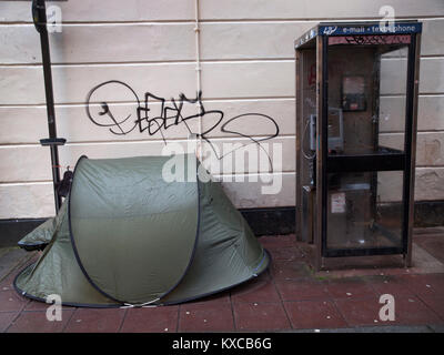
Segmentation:
<svg viewBox="0 0 444 355">
<path fill-rule="evenodd" d="M 85 111 L 87 95 L 101 82 L 119 80 L 142 99 L 147 91 L 168 100 L 180 93 L 195 98 L 194 0 L 49 4 L 59 6 L 63 19 L 62 32 L 50 34 L 58 131 L 69 142 L 60 149 L 61 164 L 73 166 L 82 154 L 159 154 L 160 133 L 134 130 L 115 135 L 93 124 Z M 273 118 L 280 133 L 269 142 L 281 142 L 284 154 L 279 194 L 261 194 L 260 181 L 224 183 L 236 206 L 294 205 L 294 40 L 319 21 L 379 20 L 384 4 L 392 6 L 398 19 L 424 23 L 415 194 L 418 201 L 444 200 L 444 1 L 201 0 L 202 103 L 206 110 L 223 111 L 226 119 L 246 112 Z M 105 94 L 113 110 L 133 110 L 128 92 Z M 395 101 L 386 106 L 396 110 Z M 91 109 L 100 111 L 100 103 Z M 203 130 L 211 122 L 203 120 Z M 254 118 L 239 125 L 256 139 L 271 130 L 270 121 Z M 248 140 L 222 130 L 209 135 L 215 144 Z M 40 44 L 30 2 L 0 1 L 0 219 L 54 213 L 49 149 L 38 143 L 46 136 Z M 178 142 L 186 138 L 183 125 L 167 136 Z M 396 133 L 386 139 L 396 140 Z"/>
</svg>

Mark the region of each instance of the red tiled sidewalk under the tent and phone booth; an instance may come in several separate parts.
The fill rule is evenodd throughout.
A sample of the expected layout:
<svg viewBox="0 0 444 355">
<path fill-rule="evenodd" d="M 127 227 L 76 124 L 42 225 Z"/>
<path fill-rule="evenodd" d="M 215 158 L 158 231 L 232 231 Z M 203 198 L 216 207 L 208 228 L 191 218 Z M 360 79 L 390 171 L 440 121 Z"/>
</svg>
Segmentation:
<svg viewBox="0 0 444 355">
<path fill-rule="evenodd" d="M 356 267 L 335 260 L 329 265 L 334 271 L 314 273 L 312 250 L 294 235 L 260 241 L 272 254 L 270 270 L 231 291 L 179 306 L 64 307 L 62 322 L 48 322 L 47 304 L 23 298 L 12 287 L 18 270 L 37 255 L 0 250 L 0 333 L 444 332 L 444 229 L 415 230 L 410 270 L 400 256 L 385 256 L 346 260 Z M 375 262 L 381 267 L 373 267 Z M 382 294 L 395 298 L 393 322 L 379 318 Z"/>
</svg>

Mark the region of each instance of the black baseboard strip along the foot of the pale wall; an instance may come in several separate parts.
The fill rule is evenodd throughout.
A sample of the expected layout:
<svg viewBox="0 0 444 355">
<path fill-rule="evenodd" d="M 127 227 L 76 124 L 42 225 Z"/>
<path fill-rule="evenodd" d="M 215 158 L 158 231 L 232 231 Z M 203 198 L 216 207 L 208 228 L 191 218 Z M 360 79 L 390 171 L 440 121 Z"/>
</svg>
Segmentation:
<svg viewBox="0 0 444 355">
<path fill-rule="evenodd" d="M 256 236 L 294 233 L 295 207 L 240 209 Z M 14 246 L 46 219 L 0 220 L 0 247 Z M 416 227 L 444 225 L 444 201 L 415 203 Z"/>
</svg>

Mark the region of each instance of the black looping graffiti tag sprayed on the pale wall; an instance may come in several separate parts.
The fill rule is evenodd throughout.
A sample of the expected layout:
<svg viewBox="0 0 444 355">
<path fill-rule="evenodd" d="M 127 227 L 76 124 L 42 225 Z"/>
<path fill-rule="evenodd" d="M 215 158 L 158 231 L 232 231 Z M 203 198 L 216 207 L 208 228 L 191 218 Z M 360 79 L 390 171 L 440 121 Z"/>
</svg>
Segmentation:
<svg viewBox="0 0 444 355">
<path fill-rule="evenodd" d="M 99 92 L 99 89 L 102 92 Z M 125 101 L 133 102 L 135 108 L 132 112 L 124 114 L 122 116 L 117 116 L 107 101 L 98 100 L 98 95 L 102 94 L 107 97 L 107 94 L 113 93 L 121 93 L 125 95 Z M 99 97 L 100 98 L 100 97 Z M 94 99 L 94 100 L 93 100 Z M 92 102 L 101 102 L 100 106 L 101 110 L 99 112 L 93 112 Z M 154 105 L 159 108 L 157 112 L 154 112 Z M 199 110 L 196 113 L 193 114 L 185 114 L 184 109 L 188 105 L 196 105 Z M 208 142 L 214 153 L 216 154 L 218 159 L 222 159 L 226 154 L 219 156 L 211 140 L 209 138 L 210 133 L 214 132 L 216 129 L 220 130 L 222 133 L 229 133 L 242 138 L 249 139 L 251 142 L 249 144 L 258 144 L 260 148 L 260 142 L 271 140 L 279 135 L 279 125 L 271 116 L 262 113 L 243 113 L 231 119 L 224 120 L 224 113 L 220 110 L 209 110 L 206 111 L 203 103 L 202 103 L 202 92 L 198 92 L 195 99 L 189 99 L 185 94 L 181 93 L 179 99 L 171 98 L 170 103 L 167 104 L 165 98 L 158 97 L 151 92 L 144 93 L 143 102 L 139 100 L 138 94 L 135 91 L 128 85 L 127 83 L 119 81 L 119 80 L 110 80 L 103 83 L 100 83 L 92 88 L 92 90 L 88 93 L 87 97 L 87 115 L 94 124 L 99 126 L 108 128 L 109 131 L 117 135 L 124 135 L 128 134 L 135 129 L 139 130 L 140 133 L 148 133 L 149 135 L 154 135 L 158 132 L 161 134 L 163 142 L 167 144 L 167 139 L 164 138 L 163 132 L 169 130 L 172 126 L 178 126 L 183 124 L 190 134 L 194 134 L 196 138 L 201 138 L 205 142 Z M 195 109 L 193 110 L 195 112 Z M 195 119 L 204 119 L 204 118 L 212 118 L 215 121 L 214 123 L 210 124 L 210 126 L 200 134 L 198 132 L 193 132 L 190 128 L 190 124 Z M 260 124 L 260 120 L 263 122 L 271 122 L 272 123 L 272 132 L 264 135 L 263 138 L 255 139 L 248 133 L 243 133 L 236 129 L 236 123 L 245 118 L 254 116 L 258 124 Z M 222 122 L 224 121 L 224 122 Z M 246 145 L 246 144 L 245 144 Z M 266 151 L 264 150 L 266 153 Z M 268 154 L 268 153 L 266 153 Z M 270 156 L 269 156 L 270 160 Z M 270 160 L 271 162 L 271 160 Z"/>
</svg>

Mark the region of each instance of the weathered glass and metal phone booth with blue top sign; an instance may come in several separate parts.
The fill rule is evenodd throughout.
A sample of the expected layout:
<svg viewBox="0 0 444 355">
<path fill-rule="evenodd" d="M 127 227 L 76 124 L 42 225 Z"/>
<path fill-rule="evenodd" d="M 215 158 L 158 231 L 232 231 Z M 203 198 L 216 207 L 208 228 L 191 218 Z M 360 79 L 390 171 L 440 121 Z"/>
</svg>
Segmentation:
<svg viewBox="0 0 444 355">
<path fill-rule="evenodd" d="M 422 23 L 320 23 L 295 41 L 296 237 L 412 264 Z"/>
</svg>

